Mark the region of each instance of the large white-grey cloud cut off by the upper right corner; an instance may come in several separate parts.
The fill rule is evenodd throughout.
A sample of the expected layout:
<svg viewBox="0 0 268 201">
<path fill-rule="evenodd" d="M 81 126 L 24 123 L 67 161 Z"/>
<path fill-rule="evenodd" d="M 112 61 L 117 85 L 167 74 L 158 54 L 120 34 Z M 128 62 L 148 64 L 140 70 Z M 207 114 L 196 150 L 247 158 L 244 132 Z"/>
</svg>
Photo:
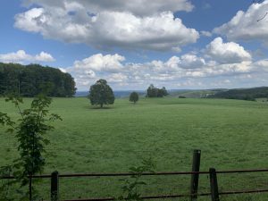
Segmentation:
<svg viewBox="0 0 268 201">
<path fill-rule="evenodd" d="M 227 23 L 215 28 L 214 33 L 226 36 L 229 40 L 268 41 L 268 17 L 262 19 L 268 11 L 268 0 L 260 4 L 251 4 L 247 12 L 239 11 Z"/>
</svg>

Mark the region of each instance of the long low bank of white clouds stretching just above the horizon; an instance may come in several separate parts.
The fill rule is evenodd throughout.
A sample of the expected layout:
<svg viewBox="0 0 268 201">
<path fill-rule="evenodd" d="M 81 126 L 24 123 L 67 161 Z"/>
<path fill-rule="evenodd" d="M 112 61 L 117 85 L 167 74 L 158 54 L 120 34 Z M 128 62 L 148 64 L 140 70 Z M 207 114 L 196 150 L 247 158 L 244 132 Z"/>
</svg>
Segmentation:
<svg viewBox="0 0 268 201">
<path fill-rule="evenodd" d="M 261 64 L 265 65 L 266 62 L 258 63 Z M 113 86 L 145 88 L 151 83 L 178 87 L 182 82 L 198 87 L 201 86 L 199 81 L 202 79 L 222 77 L 222 80 L 230 80 L 229 77 L 250 74 L 258 68 L 257 63 L 251 61 L 219 63 L 211 58 L 205 61 L 205 57 L 192 53 L 174 55 L 166 61 L 153 60 L 147 63 L 127 63 L 125 57 L 120 54 L 93 54 L 75 61 L 65 71 L 75 78 L 78 88 L 89 88 L 98 79 L 108 80 Z M 229 84 L 224 81 L 221 83 Z"/>
</svg>

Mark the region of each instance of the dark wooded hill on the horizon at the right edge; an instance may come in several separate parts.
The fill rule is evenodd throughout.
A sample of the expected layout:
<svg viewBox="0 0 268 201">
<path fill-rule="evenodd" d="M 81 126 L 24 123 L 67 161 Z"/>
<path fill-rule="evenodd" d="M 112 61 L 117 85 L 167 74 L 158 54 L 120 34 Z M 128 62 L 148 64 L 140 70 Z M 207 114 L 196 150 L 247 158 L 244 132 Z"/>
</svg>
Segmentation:
<svg viewBox="0 0 268 201">
<path fill-rule="evenodd" d="M 260 88 L 234 88 L 226 91 L 220 91 L 209 98 L 226 98 L 239 100 L 255 100 L 255 98 L 268 97 L 268 87 Z"/>
</svg>

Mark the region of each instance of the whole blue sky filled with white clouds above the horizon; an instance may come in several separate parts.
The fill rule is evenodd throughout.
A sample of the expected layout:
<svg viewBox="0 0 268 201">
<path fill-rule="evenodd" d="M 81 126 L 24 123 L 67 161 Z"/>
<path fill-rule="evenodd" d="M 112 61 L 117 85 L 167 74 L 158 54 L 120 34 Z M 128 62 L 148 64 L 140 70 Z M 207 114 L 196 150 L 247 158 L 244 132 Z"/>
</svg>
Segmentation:
<svg viewBox="0 0 268 201">
<path fill-rule="evenodd" d="M 268 0 L 2 0 L 0 62 L 68 72 L 78 90 L 267 86 Z"/>
</svg>

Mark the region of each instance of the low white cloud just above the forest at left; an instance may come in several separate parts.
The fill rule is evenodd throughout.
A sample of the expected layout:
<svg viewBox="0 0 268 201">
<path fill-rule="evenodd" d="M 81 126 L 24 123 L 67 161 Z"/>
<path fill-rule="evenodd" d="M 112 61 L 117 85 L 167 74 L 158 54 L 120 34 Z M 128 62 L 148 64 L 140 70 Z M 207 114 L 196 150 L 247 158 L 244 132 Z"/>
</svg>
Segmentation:
<svg viewBox="0 0 268 201">
<path fill-rule="evenodd" d="M 0 62 L 2 63 L 35 63 L 35 62 L 54 62 L 51 54 L 41 52 L 36 55 L 27 54 L 24 50 L 16 53 L 0 54 Z"/>
</svg>

